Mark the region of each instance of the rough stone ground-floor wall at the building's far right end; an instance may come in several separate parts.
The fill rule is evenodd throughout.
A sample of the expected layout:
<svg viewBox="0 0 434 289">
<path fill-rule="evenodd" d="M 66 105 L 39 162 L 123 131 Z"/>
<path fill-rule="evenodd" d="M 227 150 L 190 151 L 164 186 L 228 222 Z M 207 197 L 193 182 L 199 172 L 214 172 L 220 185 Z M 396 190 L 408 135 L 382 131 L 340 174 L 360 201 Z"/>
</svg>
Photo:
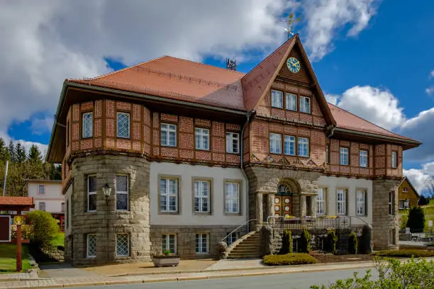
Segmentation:
<svg viewBox="0 0 434 289">
<path fill-rule="evenodd" d="M 399 248 L 399 183 L 399 180 L 394 179 L 377 179 L 372 182 L 372 237 L 375 250 Z M 391 215 L 389 214 L 389 192 L 393 193 Z"/>
</svg>

